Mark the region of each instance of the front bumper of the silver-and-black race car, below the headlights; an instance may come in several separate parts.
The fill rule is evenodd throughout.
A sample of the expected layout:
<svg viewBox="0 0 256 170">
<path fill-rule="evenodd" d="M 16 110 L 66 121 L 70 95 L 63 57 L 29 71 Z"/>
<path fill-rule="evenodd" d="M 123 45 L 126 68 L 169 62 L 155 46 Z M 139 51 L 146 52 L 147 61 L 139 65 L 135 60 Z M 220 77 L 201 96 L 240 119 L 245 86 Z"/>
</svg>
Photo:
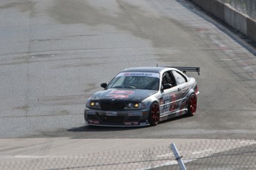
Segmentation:
<svg viewBox="0 0 256 170">
<path fill-rule="evenodd" d="M 149 109 L 105 111 L 85 108 L 85 121 L 93 126 L 147 126 Z"/>
</svg>

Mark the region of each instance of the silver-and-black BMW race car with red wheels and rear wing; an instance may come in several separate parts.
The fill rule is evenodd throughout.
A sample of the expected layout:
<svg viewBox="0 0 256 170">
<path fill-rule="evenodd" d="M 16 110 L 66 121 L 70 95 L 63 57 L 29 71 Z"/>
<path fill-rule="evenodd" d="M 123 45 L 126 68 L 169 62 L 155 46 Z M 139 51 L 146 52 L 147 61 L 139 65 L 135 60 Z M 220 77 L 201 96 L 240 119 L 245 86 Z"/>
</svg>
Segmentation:
<svg viewBox="0 0 256 170">
<path fill-rule="evenodd" d="M 197 111 L 197 82 L 186 72 L 200 67 L 135 67 L 119 72 L 85 106 L 92 126 L 156 126 L 160 121 Z"/>
</svg>

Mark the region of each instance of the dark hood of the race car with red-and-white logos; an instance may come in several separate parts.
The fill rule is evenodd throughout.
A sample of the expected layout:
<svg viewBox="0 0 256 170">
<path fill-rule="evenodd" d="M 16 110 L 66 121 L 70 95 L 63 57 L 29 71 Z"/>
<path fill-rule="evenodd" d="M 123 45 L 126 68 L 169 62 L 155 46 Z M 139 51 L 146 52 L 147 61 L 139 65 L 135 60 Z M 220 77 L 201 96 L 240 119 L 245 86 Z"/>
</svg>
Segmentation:
<svg viewBox="0 0 256 170">
<path fill-rule="evenodd" d="M 91 100 L 141 102 L 156 92 L 156 90 L 148 89 L 106 89 L 100 92 L 96 92 L 91 96 Z"/>
</svg>

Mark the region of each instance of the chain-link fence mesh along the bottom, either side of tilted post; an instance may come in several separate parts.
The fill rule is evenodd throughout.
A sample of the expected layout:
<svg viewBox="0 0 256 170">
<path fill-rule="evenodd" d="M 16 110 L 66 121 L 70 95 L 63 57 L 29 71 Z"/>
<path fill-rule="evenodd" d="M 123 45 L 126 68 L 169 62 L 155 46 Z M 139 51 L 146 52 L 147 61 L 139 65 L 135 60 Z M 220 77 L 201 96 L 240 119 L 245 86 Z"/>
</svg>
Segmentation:
<svg viewBox="0 0 256 170">
<path fill-rule="evenodd" d="M 171 143 L 170 143 L 171 144 Z M 176 144 L 186 169 L 256 169 L 256 140 Z M 170 146 L 81 156 L 5 157 L 0 169 L 180 169 Z"/>
</svg>

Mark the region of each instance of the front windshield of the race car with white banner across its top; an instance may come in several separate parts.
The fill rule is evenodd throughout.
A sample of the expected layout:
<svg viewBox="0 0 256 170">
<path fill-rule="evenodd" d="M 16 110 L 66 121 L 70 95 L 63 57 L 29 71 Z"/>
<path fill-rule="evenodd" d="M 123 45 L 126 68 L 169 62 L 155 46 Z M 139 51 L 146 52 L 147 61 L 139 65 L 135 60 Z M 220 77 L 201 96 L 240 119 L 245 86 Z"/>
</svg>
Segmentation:
<svg viewBox="0 0 256 170">
<path fill-rule="evenodd" d="M 151 89 L 158 90 L 160 74 L 154 72 L 121 72 L 108 84 L 107 89 Z"/>
</svg>

